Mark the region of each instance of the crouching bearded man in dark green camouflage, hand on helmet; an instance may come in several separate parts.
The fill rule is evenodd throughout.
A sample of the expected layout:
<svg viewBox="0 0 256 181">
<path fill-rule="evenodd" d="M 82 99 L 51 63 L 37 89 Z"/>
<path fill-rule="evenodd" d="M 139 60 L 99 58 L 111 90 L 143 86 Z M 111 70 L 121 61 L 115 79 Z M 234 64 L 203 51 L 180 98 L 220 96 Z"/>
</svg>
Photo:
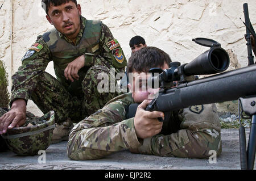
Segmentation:
<svg viewBox="0 0 256 181">
<path fill-rule="evenodd" d="M 55 28 L 38 36 L 13 75 L 11 110 L 0 117 L 0 134 L 20 127 L 26 120 L 28 99 L 47 113 L 55 111 L 59 124 L 53 142 L 68 139 L 73 123 L 91 115 L 118 92 L 98 92 L 98 75 L 110 69 L 124 71 L 127 65 L 121 45 L 109 28 L 98 20 L 81 16 L 76 0 L 43 0 L 47 20 Z M 53 61 L 56 78 L 45 72 Z"/>
</svg>

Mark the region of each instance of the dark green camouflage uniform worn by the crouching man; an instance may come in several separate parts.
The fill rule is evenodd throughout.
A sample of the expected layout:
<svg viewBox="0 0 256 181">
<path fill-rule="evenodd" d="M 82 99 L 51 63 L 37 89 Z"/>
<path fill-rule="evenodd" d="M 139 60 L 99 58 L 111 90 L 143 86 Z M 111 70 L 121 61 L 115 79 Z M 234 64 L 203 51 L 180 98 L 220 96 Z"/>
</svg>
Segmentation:
<svg viewBox="0 0 256 181">
<path fill-rule="evenodd" d="M 15 99 L 32 99 L 47 113 L 55 111 L 55 122 L 63 123 L 71 118 L 78 122 L 91 115 L 106 102 L 118 95 L 99 93 L 97 85 L 100 73 L 123 72 L 127 65 L 122 48 L 109 28 L 97 20 L 81 19 L 81 30 L 76 43 L 53 29 L 39 36 L 35 44 L 22 58 L 22 66 L 13 75 L 10 106 Z M 85 66 L 79 70 L 79 80 L 65 79 L 64 70 L 77 57 L 85 55 Z M 53 61 L 57 79 L 45 72 Z M 115 81 L 116 83 L 116 81 Z"/>
</svg>

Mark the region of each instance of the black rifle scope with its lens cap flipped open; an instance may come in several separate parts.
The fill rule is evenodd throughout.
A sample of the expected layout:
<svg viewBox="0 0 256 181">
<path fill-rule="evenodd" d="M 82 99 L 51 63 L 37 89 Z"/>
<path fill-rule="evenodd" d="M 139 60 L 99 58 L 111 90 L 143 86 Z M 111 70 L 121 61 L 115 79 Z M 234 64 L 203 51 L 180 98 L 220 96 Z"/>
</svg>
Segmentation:
<svg viewBox="0 0 256 181">
<path fill-rule="evenodd" d="M 160 85 L 160 82 L 181 81 L 185 76 L 216 74 L 228 69 L 229 55 L 217 41 L 203 38 L 193 39 L 193 41 L 211 48 L 188 64 L 180 65 L 180 62 L 171 62 L 169 69 L 163 70 L 162 73 L 158 72 L 160 74 L 152 77 L 151 81 L 159 80 Z M 150 72 L 156 73 L 156 70 L 152 69 Z"/>
</svg>

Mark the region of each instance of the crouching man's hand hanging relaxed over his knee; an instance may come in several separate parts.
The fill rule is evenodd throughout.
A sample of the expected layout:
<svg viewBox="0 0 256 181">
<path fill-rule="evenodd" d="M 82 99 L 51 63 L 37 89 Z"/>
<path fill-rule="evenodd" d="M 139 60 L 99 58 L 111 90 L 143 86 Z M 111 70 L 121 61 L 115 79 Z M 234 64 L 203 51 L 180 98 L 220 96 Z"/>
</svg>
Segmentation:
<svg viewBox="0 0 256 181">
<path fill-rule="evenodd" d="M 85 65 L 85 56 L 84 54 L 77 57 L 74 61 L 68 64 L 67 68 L 64 70 L 65 78 L 72 82 L 74 82 L 74 79 L 78 80 L 79 75 L 77 74 L 78 71 L 84 67 Z"/>
</svg>

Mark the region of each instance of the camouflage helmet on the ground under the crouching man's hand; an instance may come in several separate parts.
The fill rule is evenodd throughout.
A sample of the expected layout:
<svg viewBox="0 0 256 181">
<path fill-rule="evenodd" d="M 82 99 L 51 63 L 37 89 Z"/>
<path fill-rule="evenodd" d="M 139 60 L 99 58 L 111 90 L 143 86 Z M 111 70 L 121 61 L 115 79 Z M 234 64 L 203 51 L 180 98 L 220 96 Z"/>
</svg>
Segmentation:
<svg viewBox="0 0 256 181">
<path fill-rule="evenodd" d="M 10 129 L 3 138 L 7 146 L 14 153 L 22 156 L 38 154 L 39 150 L 46 150 L 52 141 L 55 128 L 54 111 L 25 123 L 23 127 Z"/>
</svg>

